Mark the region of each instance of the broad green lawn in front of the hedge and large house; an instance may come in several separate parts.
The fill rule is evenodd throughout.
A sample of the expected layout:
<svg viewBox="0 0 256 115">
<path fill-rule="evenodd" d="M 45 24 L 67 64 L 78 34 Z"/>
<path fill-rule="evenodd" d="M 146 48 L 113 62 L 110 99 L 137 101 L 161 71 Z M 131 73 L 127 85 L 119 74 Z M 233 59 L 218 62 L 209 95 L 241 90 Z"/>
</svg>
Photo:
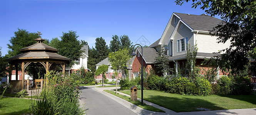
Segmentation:
<svg viewBox="0 0 256 115">
<path fill-rule="evenodd" d="M 131 93 L 130 90 L 120 92 Z M 137 95 L 141 98 L 141 90 L 138 90 Z M 256 108 L 256 95 L 188 96 L 143 90 L 143 99 L 175 112 L 199 111 L 196 108 L 201 107 L 210 110 Z"/>
</svg>

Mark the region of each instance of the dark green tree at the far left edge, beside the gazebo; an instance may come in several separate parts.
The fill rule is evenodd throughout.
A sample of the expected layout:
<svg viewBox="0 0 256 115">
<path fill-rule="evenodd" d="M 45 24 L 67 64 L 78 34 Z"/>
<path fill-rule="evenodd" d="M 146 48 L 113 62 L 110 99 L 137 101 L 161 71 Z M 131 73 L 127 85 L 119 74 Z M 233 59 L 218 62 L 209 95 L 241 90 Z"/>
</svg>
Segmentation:
<svg viewBox="0 0 256 115">
<path fill-rule="evenodd" d="M 0 47 L 0 81 L 2 80 L 2 77 L 7 77 L 8 72 L 8 62 L 5 56 L 2 56 L 2 47 Z"/>
</svg>

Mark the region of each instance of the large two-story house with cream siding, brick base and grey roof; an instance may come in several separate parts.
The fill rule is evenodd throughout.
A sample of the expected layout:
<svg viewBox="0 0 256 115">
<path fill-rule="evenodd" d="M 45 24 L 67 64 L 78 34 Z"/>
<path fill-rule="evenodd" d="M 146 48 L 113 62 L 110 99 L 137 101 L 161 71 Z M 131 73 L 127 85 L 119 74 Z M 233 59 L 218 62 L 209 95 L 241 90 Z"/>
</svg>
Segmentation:
<svg viewBox="0 0 256 115">
<path fill-rule="evenodd" d="M 132 59 L 133 77 L 138 76 L 139 68 L 141 68 L 141 58 L 143 58 L 143 66 L 146 72 L 149 68 L 156 69 L 154 66 L 155 57 L 157 57 L 158 47 L 166 48 L 169 66 L 178 72 L 178 69 L 186 65 L 186 53 L 188 46 L 197 44 L 196 66 L 201 69 L 208 69 L 201 63 L 205 58 L 212 58 L 219 50 L 228 48 L 230 41 L 226 43 L 217 43 L 217 36 L 211 36 L 209 30 L 221 23 L 221 20 L 202 14 L 191 15 L 184 13 L 172 13 L 167 26 L 160 39 L 155 41 L 147 48 L 143 48 L 143 57 L 141 56 L 141 48 L 136 49 L 137 56 Z M 202 73 L 203 74 L 203 73 Z M 218 72 L 219 75 L 223 73 Z"/>
</svg>

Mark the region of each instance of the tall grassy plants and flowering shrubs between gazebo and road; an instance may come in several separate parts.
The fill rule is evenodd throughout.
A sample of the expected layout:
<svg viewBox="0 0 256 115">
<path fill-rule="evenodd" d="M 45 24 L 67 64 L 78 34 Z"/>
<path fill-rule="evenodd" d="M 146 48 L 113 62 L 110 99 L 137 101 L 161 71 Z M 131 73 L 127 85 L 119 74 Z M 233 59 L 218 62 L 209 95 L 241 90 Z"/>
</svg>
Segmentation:
<svg viewBox="0 0 256 115">
<path fill-rule="evenodd" d="M 36 101 L 30 100 L 30 113 L 33 115 L 83 115 L 84 110 L 79 104 L 78 86 L 80 77 L 75 73 L 70 76 L 60 76 L 50 71 L 44 82 L 40 96 Z"/>
</svg>

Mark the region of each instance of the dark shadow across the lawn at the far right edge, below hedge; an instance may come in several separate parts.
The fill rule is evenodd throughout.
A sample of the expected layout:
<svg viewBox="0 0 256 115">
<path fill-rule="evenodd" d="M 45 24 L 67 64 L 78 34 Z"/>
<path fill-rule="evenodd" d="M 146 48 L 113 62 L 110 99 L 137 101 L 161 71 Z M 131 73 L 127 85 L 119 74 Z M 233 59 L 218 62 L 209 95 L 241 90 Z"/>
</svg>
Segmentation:
<svg viewBox="0 0 256 115">
<path fill-rule="evenodd" d="M 227 97 L 231 99 L 237 99 L 256 105 L 256 95 L 218 95 L 221 97 Z"/>
</svg>

